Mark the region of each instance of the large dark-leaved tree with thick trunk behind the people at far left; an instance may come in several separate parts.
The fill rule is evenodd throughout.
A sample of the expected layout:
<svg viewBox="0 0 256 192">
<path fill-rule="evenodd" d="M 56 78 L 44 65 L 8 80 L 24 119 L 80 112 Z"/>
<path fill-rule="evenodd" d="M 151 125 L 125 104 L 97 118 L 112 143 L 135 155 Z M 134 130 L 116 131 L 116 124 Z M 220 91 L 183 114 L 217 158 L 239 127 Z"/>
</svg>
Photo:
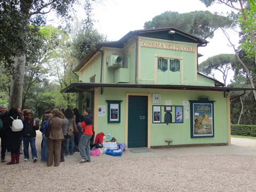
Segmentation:
<svg viewBox="0 0 256 192">
<path fill-rule="evenodd" d="M 11 50 L 10 54 L 4 52 L 3 61 L 7 63 L 7 66 L 13 67 L 9 107 L 20 107 L 22 102 L 29 25 L 44 25 L 44 15 L 50 11 L 55 11 L 58 16 L 67 18 L 68 12 L 72 9 L 73 4 L 77 2 L 78 0 L 4 0 L 0 4 L 0 18 L 2 21 L 0 22 L 0 43 L 7 43 L 6 46 L 9 46 L 9 41 L 11 42 L 10 47 L 8 47 L 8 50 Z M 90 3 L 89 0 L 86 2 Z M 12 32 L 8 34 L 10 31 Z M 15 31 L 18 33 L 14 33 Z M 20 41 L 17 41 L 18 39 Z"/>
</svg>

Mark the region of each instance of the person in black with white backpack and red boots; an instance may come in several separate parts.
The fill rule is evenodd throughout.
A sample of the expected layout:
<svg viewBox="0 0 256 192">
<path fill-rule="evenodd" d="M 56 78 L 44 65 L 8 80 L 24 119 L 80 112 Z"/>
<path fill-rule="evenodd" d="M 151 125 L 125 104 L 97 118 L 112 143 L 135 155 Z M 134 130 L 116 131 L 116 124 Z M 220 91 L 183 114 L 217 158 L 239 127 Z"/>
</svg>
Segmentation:
<svg viewBox="0 0 256 192">
<path fill-rule="evenodd" d="M 13 107 L 9 110 L 9 117 L 6 119 L 4 128 L 7 135 L 7 151 L 11 151 L 11 161 L 7 165 L 18 164 L 20 162 L 20 140 L 22 136 L 21 131 L 12 131 L 13 122 L 18 119 L 18 110 Z M 22 121 L 20 123 L 23 127 Z"/>
</svg>

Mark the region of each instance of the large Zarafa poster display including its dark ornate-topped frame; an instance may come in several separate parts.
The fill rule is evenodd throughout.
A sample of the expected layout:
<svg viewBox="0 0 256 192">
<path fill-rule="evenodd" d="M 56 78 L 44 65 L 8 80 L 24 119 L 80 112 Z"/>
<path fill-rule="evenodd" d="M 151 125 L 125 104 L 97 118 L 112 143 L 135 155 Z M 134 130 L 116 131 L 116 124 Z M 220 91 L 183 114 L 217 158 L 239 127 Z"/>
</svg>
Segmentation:
<svg viewBox="0 0 256 192">
<path fill-rule="evenodd" d="M 190 101 L 191 138 L 214 137 L 213 102 L 208 99 L 204 102 Z"/>
</svg>

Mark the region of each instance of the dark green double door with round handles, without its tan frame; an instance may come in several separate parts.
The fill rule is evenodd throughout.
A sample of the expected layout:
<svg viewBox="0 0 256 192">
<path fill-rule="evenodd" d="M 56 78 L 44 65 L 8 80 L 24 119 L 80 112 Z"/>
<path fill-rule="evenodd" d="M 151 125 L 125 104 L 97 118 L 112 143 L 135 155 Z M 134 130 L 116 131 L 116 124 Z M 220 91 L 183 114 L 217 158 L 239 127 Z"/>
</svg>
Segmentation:
<svg viewBox="0 0 256 192">
<path fill-rule="evenodd" d="M 128 147 L 147 147 L 148 141 L 148 98 L 129 96 Z"/>
</svg>

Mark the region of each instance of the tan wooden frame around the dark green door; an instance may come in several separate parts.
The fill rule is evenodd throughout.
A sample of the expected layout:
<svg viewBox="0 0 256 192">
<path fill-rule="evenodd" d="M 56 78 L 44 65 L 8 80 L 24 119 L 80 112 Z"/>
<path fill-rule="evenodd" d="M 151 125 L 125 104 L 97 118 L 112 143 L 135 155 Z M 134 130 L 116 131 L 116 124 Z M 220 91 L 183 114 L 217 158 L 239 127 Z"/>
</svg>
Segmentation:
<svg viewBox="0 0 256 192">
<path fill-rule="evenodd" d="M 129 107 L 129 96 L 146 96 L 148 97 L 148 143 L 147 147 L 150 148 L 150 119 L 151 119 L 151 107 L 150 107 L 150 93 L 125 93 L 125 145 L 128 146 L 128 107 Z"/>
</svg>

